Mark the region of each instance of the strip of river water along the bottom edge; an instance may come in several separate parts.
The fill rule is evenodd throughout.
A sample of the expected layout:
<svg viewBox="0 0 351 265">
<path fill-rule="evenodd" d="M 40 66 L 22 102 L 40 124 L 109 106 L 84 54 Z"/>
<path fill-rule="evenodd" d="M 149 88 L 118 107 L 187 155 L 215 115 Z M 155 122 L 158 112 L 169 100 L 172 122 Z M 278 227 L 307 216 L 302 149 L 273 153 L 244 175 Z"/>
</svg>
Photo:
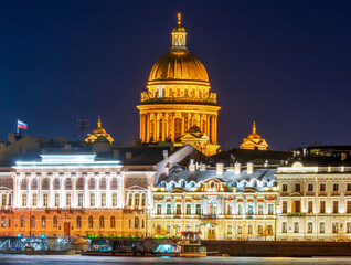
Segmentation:
<svg viewBox="0 0 351 265">
<path fill-rule="evenodd" d="M 290 257 L 104 257 L 104 256 L 31 256 L 31 255 L 0 255 L 0 264 L 53 264 L 53 265 L 75 265 L 75 264 L 247 264 L 247 265 L 330 265 L 350 264 L 351 257 L 316 257 L 316 258 L 290 258 Z"/>
</svg>

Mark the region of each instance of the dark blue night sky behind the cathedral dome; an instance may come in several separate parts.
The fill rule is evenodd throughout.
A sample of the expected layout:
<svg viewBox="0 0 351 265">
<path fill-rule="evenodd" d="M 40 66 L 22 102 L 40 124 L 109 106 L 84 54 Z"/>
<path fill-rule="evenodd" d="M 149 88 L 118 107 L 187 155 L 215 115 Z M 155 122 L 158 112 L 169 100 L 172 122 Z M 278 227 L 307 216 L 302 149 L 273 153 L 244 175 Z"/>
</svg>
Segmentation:
<svg viewBox="0 0 351 265">
<path fill-rule="evenodd" d="M 139 135 L 136 105 L 171 45 L 177 12 L 217 93 L 219 141 L 256 120 L 270 150 L 351 145 L 351 1 L 4 1 L 0 137 L 77 139 L 102 115 L 115 144 Z"/>
</svg>

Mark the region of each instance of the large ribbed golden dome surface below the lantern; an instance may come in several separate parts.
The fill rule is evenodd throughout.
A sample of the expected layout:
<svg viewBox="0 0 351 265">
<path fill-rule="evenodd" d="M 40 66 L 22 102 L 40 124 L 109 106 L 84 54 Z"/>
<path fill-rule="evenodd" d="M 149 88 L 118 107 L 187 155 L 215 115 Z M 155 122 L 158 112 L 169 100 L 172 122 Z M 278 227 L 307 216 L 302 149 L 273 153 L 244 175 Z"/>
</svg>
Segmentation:
<svg viewBox="0 0 351 265">
<path fill-rule="evenodd" d="M 171 51 L 160 57 L 151 68 L 149 81 L 202 81 L 209 82 L 205 67 L 188 51 Z"/>
</svg>

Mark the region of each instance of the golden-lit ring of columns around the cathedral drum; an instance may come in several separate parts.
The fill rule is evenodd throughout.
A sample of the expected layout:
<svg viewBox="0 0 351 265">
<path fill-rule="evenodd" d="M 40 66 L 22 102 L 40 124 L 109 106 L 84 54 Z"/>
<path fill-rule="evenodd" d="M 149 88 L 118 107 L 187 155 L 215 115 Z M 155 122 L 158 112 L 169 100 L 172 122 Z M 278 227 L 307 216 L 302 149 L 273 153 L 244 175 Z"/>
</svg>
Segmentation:
<svg viewBox="0 0 351 265">
<path fill-rule="evenodd" d="M 151 115 L 153 118 L 151 118 Z M 181 135 L 184 135 L 185 130 L 189 129 L 193 124 L 194 114 L 191 113 L 180 113 L 181 115 Z M 188 120 L 185 123 L 185 115 L 188 115 Z M 147 113 L 140 114 L 140 139 L 142 142 L 150 142 L 151 140 L 151 119 L 153 120 L 153 135 L 152 141 L 157 142 L 159 140 L 166 141 L 169 138 L 168 131 L 170 131 L 171 141 L 176 141 L 176 114 L 174 113 Z M 217 139 L 217 116 L 211 114 L 204 114 L 199 116 L 200 128 L 206 134 L 212 144 L 216 144 Z M 202 121 L 205 121 L 203 126 Z M 187 124 L 187 126 L 185 126 Z"/>
</svg>

